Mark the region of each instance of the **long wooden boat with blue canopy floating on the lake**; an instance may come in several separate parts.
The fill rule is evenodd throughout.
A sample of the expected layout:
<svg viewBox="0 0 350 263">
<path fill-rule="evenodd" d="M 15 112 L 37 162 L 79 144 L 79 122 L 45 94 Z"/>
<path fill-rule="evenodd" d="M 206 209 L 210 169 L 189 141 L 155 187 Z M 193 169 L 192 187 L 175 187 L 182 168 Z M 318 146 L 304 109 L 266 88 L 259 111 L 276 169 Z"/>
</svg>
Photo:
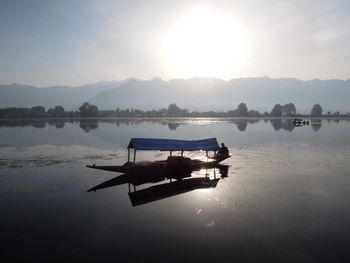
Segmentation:
<svg viewBox="0 0 350 263">
<path fill-rule="evenodd" d="M 187 173 L 203 168 L 214 168 L 220 162 L 226 160 L 230 155 L 217 155 L 220 150 L 216 138 L 203 140 L 174 140 L 174 139 L 153 139 L 153 138 L 132 138 L 128 144 L 128 161 L 123 165 L 99 166 L 87 165 L 92 169 L 119 172 L 134 175 L 155 175 L 155 174 L 172 174 L 172 173 Z M 133 149 L 133 161 L 130 161 L 130 151 Z M 144 151 L 169 151 L 170 156 L 166 160 L 153 162 L 136 162 L 137 150 Z M 172 153 L 181 152 L 179 156 L 173 156 Z M 185 151 L 205 151 L 207 160 L 191 159 L 184 157 Z M 209 152 L 214 152 L 212 158 L 209 157 Z"/>
</svg>

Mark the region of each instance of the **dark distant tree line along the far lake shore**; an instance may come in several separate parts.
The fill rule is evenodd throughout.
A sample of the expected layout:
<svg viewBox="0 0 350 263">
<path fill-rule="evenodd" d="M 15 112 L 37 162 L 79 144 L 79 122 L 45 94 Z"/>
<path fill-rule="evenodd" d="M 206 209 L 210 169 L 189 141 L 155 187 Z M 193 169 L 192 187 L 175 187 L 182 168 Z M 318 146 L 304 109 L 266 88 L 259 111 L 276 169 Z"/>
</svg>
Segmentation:
<svg viewBox="0 0 350 263">
<path fill-rule="evenodd" d="M 172 103 L 168 108 L 159 110 L 140 109 L 120 109 L 99 110 L 96 105 L 85 102 L 78 111 L 66 111 L 62 106 L 45 109 L 43 106 L 32 108 L 0 108 L 0 118 L 77 118 L 77 117 L 350 117 L 349 113 L 327 112 L 323 114 L 320 104 L 314 104 L 309 115 L 297 114 L 297 109 L 293 103 L 285 105 L 276 104 L 270 112 L 260 113 L 257 110 L 248 110 L 245 103 L 240 103 L 235 110 L 229 111 L 189 111 L 181 109 L 176 103 Z"/>
</svg>

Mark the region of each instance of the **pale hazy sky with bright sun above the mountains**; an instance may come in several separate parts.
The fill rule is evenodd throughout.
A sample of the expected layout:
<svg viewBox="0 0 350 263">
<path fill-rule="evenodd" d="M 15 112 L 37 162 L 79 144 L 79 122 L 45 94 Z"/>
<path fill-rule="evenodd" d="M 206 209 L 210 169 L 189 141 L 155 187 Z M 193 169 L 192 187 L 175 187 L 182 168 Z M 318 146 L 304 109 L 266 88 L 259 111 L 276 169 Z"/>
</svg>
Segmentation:
<svg viewBox="0 0 350 263">
<path fill-rule="evenodd" d="M 0 0 L 0 83 L 350 78 L 350 1 Z"/>
</svg>

